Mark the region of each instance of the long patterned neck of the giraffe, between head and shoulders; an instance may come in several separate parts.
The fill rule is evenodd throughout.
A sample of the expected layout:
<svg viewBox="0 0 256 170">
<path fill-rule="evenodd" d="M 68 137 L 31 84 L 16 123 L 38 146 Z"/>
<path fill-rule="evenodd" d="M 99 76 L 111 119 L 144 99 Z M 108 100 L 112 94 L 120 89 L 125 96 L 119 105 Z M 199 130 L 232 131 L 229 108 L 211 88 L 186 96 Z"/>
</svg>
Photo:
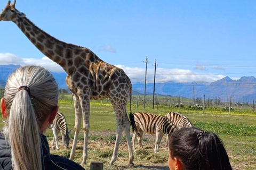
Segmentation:
<svg viewBox="0 0 256 170">
<path fill-rule="evenodd" d="M 39 29 L 33 22 L 26 17 L 13 21 L 18 25 L 26 37 L 38 48 L 45 56 L 59 64 L 67 73 L 69 73 L 76 61 L 73 55 L 79 55 L 85 58 L 86 54 L 92 53 L 87 48 L 82 48 L 72 44 L 64 43 L 43 30 Z M 81 60 L 79 61 L 81 62 Z"/>
</svg>

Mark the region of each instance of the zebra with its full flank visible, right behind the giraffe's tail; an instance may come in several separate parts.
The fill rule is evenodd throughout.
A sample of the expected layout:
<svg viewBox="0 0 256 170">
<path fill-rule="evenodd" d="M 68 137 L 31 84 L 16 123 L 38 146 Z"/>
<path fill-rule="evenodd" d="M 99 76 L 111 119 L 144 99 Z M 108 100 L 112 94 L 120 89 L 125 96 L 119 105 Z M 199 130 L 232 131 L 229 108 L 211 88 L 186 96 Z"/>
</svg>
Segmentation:
<svg viewBox="0 0 256 170">
<path fill-rule="evenodd" d="M 156 142 L 155 142 L 155 153 L 158 153 L 159 143 L 163 138 L 164 134 L 167 134 L 169 137 L 173 130 L 175 130 L 174 124 L 164 116 L 161 115 L 153 115 L 149 113 L 138 112 L 134 114 L 135 120 L 135 131 L 133 132 L 132 144 L 133 151 L 135 152 L 135 138 L 138 133 L 138 143 L 140 148 L 143 149 L 141 145 L 141 138 L 143 132 L 148 134 L 156 134 Z"/>
</svg>

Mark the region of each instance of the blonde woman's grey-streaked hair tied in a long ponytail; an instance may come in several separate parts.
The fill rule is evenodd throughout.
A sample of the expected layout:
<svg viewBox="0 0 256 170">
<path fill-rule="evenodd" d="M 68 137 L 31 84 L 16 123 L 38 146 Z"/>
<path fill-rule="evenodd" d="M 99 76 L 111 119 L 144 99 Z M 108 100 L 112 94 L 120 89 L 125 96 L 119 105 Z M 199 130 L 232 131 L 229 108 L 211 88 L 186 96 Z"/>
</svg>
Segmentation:
<svg viewBox="0 0 256 170">
<path fill-rule="evenodd" d="M 26 89 L 18 90 L 21 86 Z M 30 93 L 30 94 L 29 94 Z M 40 66 L 25 66 L 10 75 L 4 93 L 13 169 L 42 169 L 39 129 L 58 104 L 58 85 Z"/>
</svg>

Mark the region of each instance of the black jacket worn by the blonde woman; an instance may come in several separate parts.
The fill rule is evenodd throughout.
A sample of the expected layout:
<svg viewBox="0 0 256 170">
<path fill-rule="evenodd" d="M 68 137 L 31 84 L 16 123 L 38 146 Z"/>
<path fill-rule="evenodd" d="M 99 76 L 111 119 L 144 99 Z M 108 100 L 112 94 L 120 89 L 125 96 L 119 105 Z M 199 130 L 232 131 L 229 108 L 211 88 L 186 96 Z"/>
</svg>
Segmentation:
<svg viewBox="0 0 256 170">
<path fill-rule="evenodd" d="M 59 170 L 59 169 L 70 169 L 70 170 L 84 170 L 84 168 L 73 162 L 73 160 L 69 160 L 67 158 L 57 156 L 57 155 L 50 155 L 50 148 L 47 142 L 45 135 L 41 134 L 41 141 L 42 141 L 42 169 L 51 169 L 51 170 Z M 7 144 L 2 132 L 0 132 L 0 169 L 12 169 L 12 162 L 11 162 L 11 151 L 10 146 Z M 2 167 L 1 167 L 2 166 Z"/>
</svg>

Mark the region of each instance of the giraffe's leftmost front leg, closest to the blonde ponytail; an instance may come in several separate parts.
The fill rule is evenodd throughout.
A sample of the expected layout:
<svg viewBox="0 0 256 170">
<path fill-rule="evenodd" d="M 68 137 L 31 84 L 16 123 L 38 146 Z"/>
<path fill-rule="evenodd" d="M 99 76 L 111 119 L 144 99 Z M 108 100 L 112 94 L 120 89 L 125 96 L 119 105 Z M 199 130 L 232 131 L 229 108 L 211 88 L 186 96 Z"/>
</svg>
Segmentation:
<svg viewBox="0 0 256 170">
<path fill-rule="evenodd" d="M 74 135 L 74 141 L 72 145 L 72 149 L 70 152 L 70 160 L 73 160 L 76 153 L 76 144 L 78 139 L 78 134 L 81 128 L 81 118 L 82 118 L 82 111 L 81 111 L 81 105 L 79 103 L 79 98 L 77 95 L 73 95 L 74 105 L 75 105 L 75 135 Z"/>
</svg>

